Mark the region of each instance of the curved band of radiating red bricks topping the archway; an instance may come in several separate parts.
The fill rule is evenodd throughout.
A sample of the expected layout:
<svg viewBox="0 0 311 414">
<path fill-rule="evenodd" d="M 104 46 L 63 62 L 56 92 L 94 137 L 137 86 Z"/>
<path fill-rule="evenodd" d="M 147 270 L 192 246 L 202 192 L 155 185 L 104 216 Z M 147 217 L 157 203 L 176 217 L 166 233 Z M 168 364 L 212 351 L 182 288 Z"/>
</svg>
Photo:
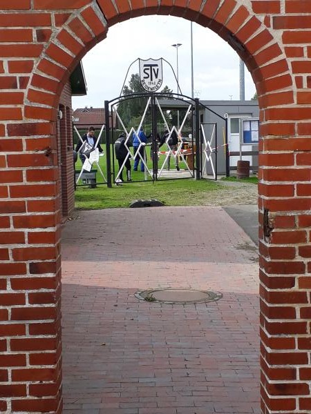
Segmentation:
<svg viewBox="0 0 311 414">
<path fill-rule="evenodd" d="M 55 108 L 59 93 L 68 80 L 70 72 L 95 43 L 106 37 L 110 26 L 133 17 L 153 13 L 171 14 L 189 19 L 216 32 L 236 50 L 245 62 L 252 74 L 259 97 L 265 95 L 266 92 L 292 86 L 288 62 L 269 30 L 269 24 L 261 22 L 245 6 L 239 6 L 236 1 L 225 1 L 220 8 L 218 7 L 219 1 L 216 1 L 214 6 L 209 6 L 207 3 L 202 6 L 204 2 L 198 1 L 194 3 L 194 6 L 189 4 L 188 8 L 185 8 L 182 2 L 176 2 L 177 4 L 174 5 L 173 0 L 156 7 L 152 5 L 152 2 L 151 6 L 142 7 L 142 1 L 133 1 L 131 7 L 130 3 L 122 1 L 114 5 L 111 0 L 98 0 L 96 5 L 88 4 L 87 0 L 83 3 L 86 6 L 79 15 L 70 15 L 60 30 L 46 39 L 44 53 L 30 79 L 30 87 L 26 96 L 30 104 L 48 103 Z M 271 61 L 273 62 L 270 63 Z M 285 72 L 288 72 L 287 75 L 284 75 Z M 267 79 L 281 74 L 283 81 L 271 81 L 269 85 L 266 85 Z M 55 81 L 52 79 L 47 81 L 46 76 L 53 77 Z M 36 94 L 33 87 L 46 90 L 48 95 L 44 95 L 44 92 Z M 276 100 L 278 98 L 276 97 Z M 260 103 L 267 101 L 269 103 L 271 99 L 272 97 L 262 99 Z M 38 116 L 41 113 L 41 111 L 34 110 L 32 115 L 33 112 L 37 112 Z"/>
</svg>

